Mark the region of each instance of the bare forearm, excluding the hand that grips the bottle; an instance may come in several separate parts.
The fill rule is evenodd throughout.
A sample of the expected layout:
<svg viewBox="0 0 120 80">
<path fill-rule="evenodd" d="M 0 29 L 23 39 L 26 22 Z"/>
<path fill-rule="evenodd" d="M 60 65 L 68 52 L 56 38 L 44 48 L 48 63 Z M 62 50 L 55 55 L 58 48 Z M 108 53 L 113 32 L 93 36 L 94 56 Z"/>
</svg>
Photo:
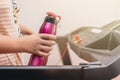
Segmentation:
<svg viewBox="0 0 120 80">
<path fill-rule="evenodd" d="M 0 35 L 0 53 L 22 52 L 18 41 L 19 38 Z"/>
</svg>

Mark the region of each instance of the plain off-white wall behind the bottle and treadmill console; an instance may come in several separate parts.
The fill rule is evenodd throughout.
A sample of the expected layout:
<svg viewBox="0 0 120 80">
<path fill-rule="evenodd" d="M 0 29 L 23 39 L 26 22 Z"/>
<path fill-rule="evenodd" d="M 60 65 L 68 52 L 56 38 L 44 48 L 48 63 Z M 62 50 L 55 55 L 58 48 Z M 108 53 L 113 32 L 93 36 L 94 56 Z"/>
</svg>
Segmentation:
<svg viewBox="0 0 120 80">
<path fill-rule="evenodd" d="M 61 15 L 58 36 L 66 35 L 81 26 L 101 27 L 120 17 L 120 0 L 18 0 L 18 2 L 20 21 L 37 32 L 47 11 Z M 53 53 L 56 53 L 56 50 Z"/>
</svg>

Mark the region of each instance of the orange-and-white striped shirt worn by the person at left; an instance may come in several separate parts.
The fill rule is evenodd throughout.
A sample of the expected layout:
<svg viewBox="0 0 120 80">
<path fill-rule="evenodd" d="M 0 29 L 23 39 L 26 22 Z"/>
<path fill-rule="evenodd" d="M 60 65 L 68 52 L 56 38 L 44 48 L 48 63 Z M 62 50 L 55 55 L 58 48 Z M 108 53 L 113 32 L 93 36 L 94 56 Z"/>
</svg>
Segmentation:
<svg viewBox="0 0 120 80">
<path fill-rule="evenodd" d="M 15 23 L 14 6 L 11 0 L 0 1 L 0 35 L 20 36 L 19 26 Z M 22 65 L 19 53 L 0 53 L 0 66 Z"/>
</svg>

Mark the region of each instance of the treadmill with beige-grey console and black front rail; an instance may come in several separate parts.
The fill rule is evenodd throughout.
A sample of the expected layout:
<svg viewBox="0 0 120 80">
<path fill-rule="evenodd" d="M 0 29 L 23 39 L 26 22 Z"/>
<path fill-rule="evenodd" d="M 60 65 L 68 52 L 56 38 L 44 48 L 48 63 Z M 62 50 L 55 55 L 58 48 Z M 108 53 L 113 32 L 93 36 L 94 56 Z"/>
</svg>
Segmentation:
<svg viewBox="0 0 120 80">
<path fill-rule="evenodd" d="M 75 42 L 73 35 L 81 38 Z M 69 41 L 70 48 L 80 58 L 89 63 L 78 66 L 68 65 L 69 55 L 65 56 L 64 66 L 1 66 L 3 80 L 110 80 L 120 74 L 120 21 L 113 21 L 101 28 L 82 27 L 57 42 Z M 62 45 L 62 47 L 64 47 Z M 61 45 L 59 44 L 59 48 Z M 62 50 L 62 49 L 61 49 Z M 68 52 L 67 52 L 68 53 Z"/>
</svg>

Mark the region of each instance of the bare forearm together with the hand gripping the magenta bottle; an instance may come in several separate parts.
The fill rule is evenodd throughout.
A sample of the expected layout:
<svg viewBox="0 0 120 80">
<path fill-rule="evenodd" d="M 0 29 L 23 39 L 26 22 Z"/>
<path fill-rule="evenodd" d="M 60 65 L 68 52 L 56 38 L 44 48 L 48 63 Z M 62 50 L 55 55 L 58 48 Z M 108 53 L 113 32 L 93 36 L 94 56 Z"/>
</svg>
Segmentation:
<svg viewBox="0 0 120 80">
<path fill-rule="evenodd" d="M 20 38 L 0 35 L 0 53 L 28 52 L 48 56 L 55 39 L 56 36 L 50 34 L 34 34 Z"/>
</svg>

